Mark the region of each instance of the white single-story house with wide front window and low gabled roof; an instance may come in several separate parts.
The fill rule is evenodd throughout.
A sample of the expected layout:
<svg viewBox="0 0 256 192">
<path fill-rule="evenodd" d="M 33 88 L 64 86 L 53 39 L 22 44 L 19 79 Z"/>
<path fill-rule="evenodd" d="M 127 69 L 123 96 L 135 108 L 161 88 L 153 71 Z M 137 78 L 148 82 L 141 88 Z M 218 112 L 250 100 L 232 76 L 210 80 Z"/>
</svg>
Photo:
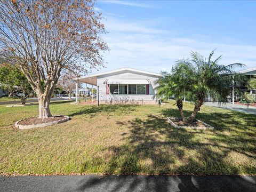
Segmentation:
<svg viewBox="0 0 256 192">
<path fill-rule="evenodd" d="M 97 86 L 100 103 L 156 103 L 155 81 L 161 75 L 144 70 L 121 68 L 76 78 L 78 82 Z M 77 90 L 78 91 L 78 90 Z"/>
</svg>

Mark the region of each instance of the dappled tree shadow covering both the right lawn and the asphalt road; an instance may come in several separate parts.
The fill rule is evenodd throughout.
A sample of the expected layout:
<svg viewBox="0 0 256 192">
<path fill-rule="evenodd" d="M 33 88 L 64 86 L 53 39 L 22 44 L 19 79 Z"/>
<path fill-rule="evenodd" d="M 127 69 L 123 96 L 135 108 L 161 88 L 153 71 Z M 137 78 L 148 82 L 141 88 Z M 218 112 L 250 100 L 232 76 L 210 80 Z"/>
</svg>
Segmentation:
<svg viewBox="0 0 256 192">
<path fill-rule="evenodd" d="M 189 112 L 186 111 L 186 113 Z M 254 119 L 250 115 L 245 115 L 245 121 L 241 122 L 241 119 L 236 118 L 240 115 L 239 113 L 230 113 L 223 117 L 221 113 L 198 114 L 198 118 L 202 121 L 218 127 L 214 131 L 175 129 L 166 123 L 167 116 L 179 116 L 178 110 L 175 109 L 163 109 L 162 115 L 158 116 L 148 115 L 145 118 L 135 118 L 132 121 L 117 122 L 119 126 L 128 126 L 129 132 L 123 134 L 123 142 L 120 145 L 102 149 L 111 154 L 110 158 L 105 159 L 105 173 L 255 174 L 255 163 L 248 162 L 253 162 L 256 158 L 256 141 L 253 140 L 255 133 L 248 136 L 247 132 L 250 127 L 245 128 L 245 126 L 253 124 Z M 238 162 L 240 161 L 239 155 L 242 158 L 241 162 L 243 162 L 243 158 L 245 162 L 233 163 L 229 159 L 232 153 L 238 154 L 236 157 Z M 86 170 L 86 165 L 84 168 Z M 121 176 L 121 178 L 123 177 L 126 176 Z M 245 182 L 238 177 L 228 178 L 224 181 L 218 176 L 211 176 L 211 179 L 208 178 L 204 181 L 210 185 L 205 185 L 201 179 L 193 175 L 173 177 L 147 175 L 141 176 L 141 178 L 140 175 L 130 175 L 127 177 L 129 178 L 118 180 L 113 175 L 106 176 L 106 179 L 104 179 L 105 177 L 92 179 L 90 182 L 82 183 L 79 189 L 85 190 L 91 186 L 111 182 L 114 184 L 109 185 L 108 191 L 132 191 L 138 186 L 147 191 L 168 191 L 171 188 L 177 191 L 198 191 L 198 189 L 239 191 L 241 186 L 244 189 L 246 187 L 249 191 L 254 190 L 253 183 Z M 233 188 L 227 188 L 225 186 L 227 183 Z"/>
</svg>

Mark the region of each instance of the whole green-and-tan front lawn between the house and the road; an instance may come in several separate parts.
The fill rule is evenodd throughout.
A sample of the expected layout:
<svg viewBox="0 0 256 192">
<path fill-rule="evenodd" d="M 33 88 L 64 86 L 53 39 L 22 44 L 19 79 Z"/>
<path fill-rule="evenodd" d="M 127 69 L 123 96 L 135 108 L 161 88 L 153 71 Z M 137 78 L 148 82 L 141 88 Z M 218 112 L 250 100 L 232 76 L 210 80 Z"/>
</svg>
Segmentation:
<svg viewBox="0 0 256 192">
<path fill-rule="evenodd" d="M 197 118 L 215 127 L 179 130 L 174 103 L 158 106 L 70 105 L 52 102 L 62 124 L 31 130 L 13 127 L 37 115 L 37 106 L 0 106 L 0 173 L 3 174 L 256 174 L 254 115 L 202 107 Z M 185 113 L 193 106 L 185 104 Z"/>
</svg>

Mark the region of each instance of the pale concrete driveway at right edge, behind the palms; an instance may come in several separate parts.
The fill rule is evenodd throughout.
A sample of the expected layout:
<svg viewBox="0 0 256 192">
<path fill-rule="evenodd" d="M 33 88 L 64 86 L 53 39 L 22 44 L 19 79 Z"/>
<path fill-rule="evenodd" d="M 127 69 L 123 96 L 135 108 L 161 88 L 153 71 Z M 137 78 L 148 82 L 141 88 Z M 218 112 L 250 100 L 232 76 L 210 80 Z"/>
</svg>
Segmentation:
<svg viewBox="0 0 256 192">
<path fill-rule="evenodd" d="M 218 105 L 218 102 L 204 102 L 204 105 L 256 115 L 256 107 L 254 106 L 247 107 L 247 106 L 238 105 L 238 104 L 233 105 L 232 103 L 222 103 L 221 105 Z"/>
</svg>

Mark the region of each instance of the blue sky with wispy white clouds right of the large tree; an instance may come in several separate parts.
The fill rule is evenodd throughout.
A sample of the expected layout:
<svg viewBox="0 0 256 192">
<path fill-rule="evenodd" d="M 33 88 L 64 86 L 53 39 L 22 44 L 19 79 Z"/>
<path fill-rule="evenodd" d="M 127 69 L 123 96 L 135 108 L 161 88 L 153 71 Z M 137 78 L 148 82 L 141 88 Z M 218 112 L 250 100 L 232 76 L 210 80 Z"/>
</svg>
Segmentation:
<svg viewBox="0 0 256 192">
<path fill-rule="evenodd" d="M 170 71 L 190 51 L 220 64 L 256 67 L 256 1 L 98 1 L 110 51 L 107 71 L 131 67 Z M 95 71 L 94 71 L 95 72 Z"/>
</svg>

